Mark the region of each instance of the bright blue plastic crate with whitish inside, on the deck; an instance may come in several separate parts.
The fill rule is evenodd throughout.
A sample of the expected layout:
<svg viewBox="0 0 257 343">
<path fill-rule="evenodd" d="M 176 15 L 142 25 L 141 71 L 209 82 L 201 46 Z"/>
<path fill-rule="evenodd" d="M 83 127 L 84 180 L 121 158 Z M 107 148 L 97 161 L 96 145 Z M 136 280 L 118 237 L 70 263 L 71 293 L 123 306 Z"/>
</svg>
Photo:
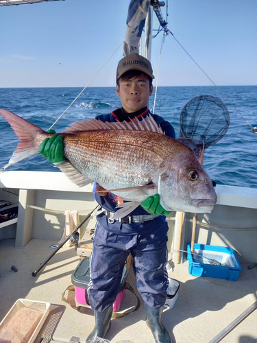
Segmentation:
<svg viewBox="0 0 257 343">
<path fill-rule="evenodd" d="M 236 281 L 241 265 L 232 248 L 195 244 L 194 254 L 191 244 L 187 246 L 189 274 Z"/>
</svg>

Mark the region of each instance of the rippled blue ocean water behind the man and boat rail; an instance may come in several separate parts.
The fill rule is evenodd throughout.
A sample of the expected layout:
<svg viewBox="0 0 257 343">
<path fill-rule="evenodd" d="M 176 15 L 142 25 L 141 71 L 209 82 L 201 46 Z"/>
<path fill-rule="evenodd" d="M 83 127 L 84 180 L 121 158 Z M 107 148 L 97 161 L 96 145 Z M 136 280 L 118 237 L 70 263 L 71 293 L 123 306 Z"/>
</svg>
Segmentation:
<svg viewBox="0 0 257 343">
<path fill-rule="evenodd" d="M 247 121 L 252 126 L 257 126 L 257 86 L 221 86 L 219 88 Z M 82 88 L 0 88 L 0 108 L 10 110 L 43 130 L 48 130 L 80 91 Z M 199 95 L 218 97 L 230 113 L 230 127 L 227 134 L 221 141 L 205 151 L 204 168 L 217 184 L 256 188 L 257 134 L 252 133 L 250 126 L 217 91 L 217 88 L 212 86 L 158 87 L 155 113 L 160 113 L 164 119 L 171 122 L 176 136 L 179 137 L 182 108 L 193 97 Z M 86 91 L 53 128 L 56 132 L 61 132 L 74 121 L 111 113 L 120 106 L 120 99 L 115 88 L 86 88 Z M 152 109 L 153 106 L 154 95 L 150 98 L 149 108 Z M 3 167 L 8 163 L 19 139 L 1 116 L 0 127 L 0 167 Z M 16 163 L 8 170 L 59 171 L 40 154 Z"/>
</svg>

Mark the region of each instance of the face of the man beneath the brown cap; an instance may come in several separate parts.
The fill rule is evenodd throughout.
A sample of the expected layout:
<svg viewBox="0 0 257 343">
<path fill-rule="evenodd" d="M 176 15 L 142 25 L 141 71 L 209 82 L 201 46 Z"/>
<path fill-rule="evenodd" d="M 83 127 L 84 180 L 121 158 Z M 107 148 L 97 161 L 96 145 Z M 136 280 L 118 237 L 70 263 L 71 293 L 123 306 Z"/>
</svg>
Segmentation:
<svg viewBox="0 0 257 343">
<path fill-rule="evenodd" d="M 121 77 L 119 86 L 116 86 L 117 95 L 121 97 L 121 104 L 126 113 L 133 113 L 147 106 L 148 99 L 153 93 L 153 86 L 149 88 L 149 79 L 146 75 L 124 81 Z"/>
</svg>

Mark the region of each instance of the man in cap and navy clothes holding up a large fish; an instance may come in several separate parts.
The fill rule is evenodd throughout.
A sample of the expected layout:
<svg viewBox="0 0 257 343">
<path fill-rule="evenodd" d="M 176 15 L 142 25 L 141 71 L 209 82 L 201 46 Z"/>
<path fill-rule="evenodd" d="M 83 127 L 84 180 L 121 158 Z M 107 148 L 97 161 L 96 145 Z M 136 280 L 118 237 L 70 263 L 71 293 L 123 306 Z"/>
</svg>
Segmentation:
<svg viewBox="0 0 257 343">
<path fill-rule="evenodd" d="M 147 108 L 153 92 L 154 79 L 151 63 L 138 54 L 123 58 L 117 67 L 117 95 L 122 107 L 109 115 L 99 115 L 101 121 L 132 121 L 151 115 Z M 175 131 L 171 124 L 158 115 L 152 115 L 162 130 L 171 138 Z M 140 120 L 140 119 L 139 119 Z M 51 162 L 63 161 L 62 137 L 55 135 L 40 146 L 40 153 Z M 94 191 L 100 185 L 95 183 Z M 100 195 L 101 194 L 101 195 Z M 130 215 L 112 220 L 117 196 L 113 193 L 95 193 L 102 211 L 97 225 L 90 257 L 90 283 L 88 296 L 95 313 L 95 328 L 86 342 L 104 338 L 111 326 L 112 304 L 117 296 L 127 256 L 132 254 L 136 287 L 145 302 L 147 325 L 156 342 L 170 343 L 171 338 L 161 322 L 167 289 L 167 231 L 168 225 L 160 205 L 160 196 L 149 197 Z M 149 214 L 150 213 L 150 214 Z"/>
</svg>

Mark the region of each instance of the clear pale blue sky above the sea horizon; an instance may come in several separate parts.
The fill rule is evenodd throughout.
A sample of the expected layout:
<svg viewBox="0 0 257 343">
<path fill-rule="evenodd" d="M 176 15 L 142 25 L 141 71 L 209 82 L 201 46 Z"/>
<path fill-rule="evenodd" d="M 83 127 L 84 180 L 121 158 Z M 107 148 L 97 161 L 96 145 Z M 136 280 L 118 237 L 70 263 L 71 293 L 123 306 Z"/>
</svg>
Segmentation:
<svg viewBox="0 0 257 343">
<path fill-rule="evenodd" d="M 125 38 L 129 3 L 1 6 L 0 87 L 85 86 Z M 256 15 L 256 0 L 169 0 L 169 29 L 217 85 L 257 84 Z M 156 73 L 161 40 L 159 34 L 152 42 Z M 122 54 L 120 47 L 90 86 L 114 86 Z M 158 85 L 211 83 L 169 35 Z"/>
</svg>

